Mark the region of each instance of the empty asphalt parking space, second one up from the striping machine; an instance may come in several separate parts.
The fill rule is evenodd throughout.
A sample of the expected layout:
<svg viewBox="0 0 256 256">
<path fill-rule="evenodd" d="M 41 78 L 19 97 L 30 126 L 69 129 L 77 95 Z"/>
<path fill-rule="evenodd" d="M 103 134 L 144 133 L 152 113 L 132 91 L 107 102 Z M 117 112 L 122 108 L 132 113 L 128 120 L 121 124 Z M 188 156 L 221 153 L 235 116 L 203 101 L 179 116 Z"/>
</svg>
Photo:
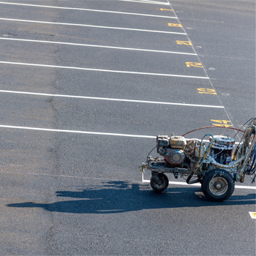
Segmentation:
<svg viewBox="0 0 256 256">
<path fill-rule="evenodd" d="M 26 72 L 31 72 L 30 76 Z M 45 94 L 137 99 L 157 102 L 219 105 L 208 79 L 175 78 L 157 75 L 88 72 L 78 69 L 2 65 L 1 89 Z M 13 78 L 17 78 L 15 82 Z M 189 92 L 189 93 L 187 93 Z M 210 94 L 208 94 L 210 93 Z"/>
</svg>

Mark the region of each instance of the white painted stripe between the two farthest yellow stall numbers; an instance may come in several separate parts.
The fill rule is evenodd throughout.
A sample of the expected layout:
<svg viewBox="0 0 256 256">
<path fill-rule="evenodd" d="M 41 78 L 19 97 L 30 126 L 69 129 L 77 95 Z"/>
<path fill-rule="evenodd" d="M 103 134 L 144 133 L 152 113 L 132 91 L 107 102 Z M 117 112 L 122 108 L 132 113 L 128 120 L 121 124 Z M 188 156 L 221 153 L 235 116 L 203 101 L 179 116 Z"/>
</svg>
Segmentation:
<svg viewBox="0 0 256 256">
<path fill-rule="evenodd" d="M 138 15 L 138 16 L 147 16 L 147 17 L 177 19 L 177 17 L 162 16 L 162 15 L 149 15 L 149 14 L 143 14 L 143 13 L 115 12 L 115 11 L 108 11 L 108 10 L 93 10 L 93 9 L 73 8 L 73 7 L 54 7 L 54 6 L 49 6 L 49 5 L 38 5 L 38 4 L 7 3 L 5 1 L 0 1 L 0 4 L 12 4 L 12 5 L 19 5 L 19 6 L 26 6 L 26 7 L 40 7 L 40 8 L 59 9 L 59 10 L 78 10 L 78 11 L 86 11 L 86 12 L 107 12 L 107 13 L 116 13 L 116 14 L 121 14 L 121 15 L 123 15 L 123 14 L 124 15 Z"/>
</svg>

